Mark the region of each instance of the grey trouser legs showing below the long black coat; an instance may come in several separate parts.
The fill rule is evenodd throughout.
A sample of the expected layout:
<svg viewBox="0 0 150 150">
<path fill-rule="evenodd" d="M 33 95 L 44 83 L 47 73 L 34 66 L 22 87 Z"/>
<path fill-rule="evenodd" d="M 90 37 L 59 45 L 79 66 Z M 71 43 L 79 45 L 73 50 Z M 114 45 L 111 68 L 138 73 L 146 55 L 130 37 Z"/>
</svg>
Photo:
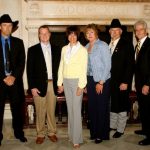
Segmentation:
<svg viewBox="0 0 150 150">
<path fill-rule="evenodd" d="M 110 113 L 110 128 L 116 129 L 118 132 L 123 133 L 127 123 L 127 112 Z"/>
</svg>

